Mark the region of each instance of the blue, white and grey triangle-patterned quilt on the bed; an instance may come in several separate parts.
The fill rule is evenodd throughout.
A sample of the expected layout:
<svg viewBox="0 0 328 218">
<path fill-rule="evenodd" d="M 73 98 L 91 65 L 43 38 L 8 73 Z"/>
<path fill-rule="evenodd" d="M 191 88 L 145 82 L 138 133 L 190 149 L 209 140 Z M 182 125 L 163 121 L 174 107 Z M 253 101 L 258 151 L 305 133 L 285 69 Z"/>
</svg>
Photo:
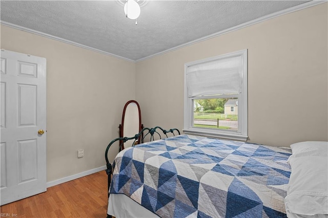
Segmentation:
<svg viewBox="0 0 328 218">
<path fill-rule="evenodd" d="M 286 217 L 288 148 L 180 135 L 122 150 L 110 193 L 161 217 Z"/>
</svg>

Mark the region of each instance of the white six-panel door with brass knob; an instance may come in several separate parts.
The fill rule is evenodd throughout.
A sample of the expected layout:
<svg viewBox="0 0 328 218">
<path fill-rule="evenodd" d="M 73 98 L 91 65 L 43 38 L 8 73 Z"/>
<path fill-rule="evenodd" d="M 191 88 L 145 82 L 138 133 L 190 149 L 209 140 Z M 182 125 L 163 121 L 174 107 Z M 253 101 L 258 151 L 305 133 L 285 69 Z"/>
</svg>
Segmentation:
<svg viewBox="0 0 328 218">
<path fill-rule="evenodd" d="M 4 205 L 47 190 L 46 59 L 2 50 L 0 83 Z"/>
</svg>

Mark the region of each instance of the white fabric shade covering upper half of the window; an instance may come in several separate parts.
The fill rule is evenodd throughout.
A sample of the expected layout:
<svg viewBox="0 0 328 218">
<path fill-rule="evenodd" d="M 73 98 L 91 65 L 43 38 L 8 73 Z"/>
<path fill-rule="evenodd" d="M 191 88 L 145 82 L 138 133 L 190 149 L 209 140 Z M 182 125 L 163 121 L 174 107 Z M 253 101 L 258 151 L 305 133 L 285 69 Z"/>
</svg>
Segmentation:
<svg viewBox="0 0 328 218">
<path fill-rule="evenodd" d="M 241 66 L 241 56 L 188 66 L 188 97 L 241 93 Z"/>
</svg>

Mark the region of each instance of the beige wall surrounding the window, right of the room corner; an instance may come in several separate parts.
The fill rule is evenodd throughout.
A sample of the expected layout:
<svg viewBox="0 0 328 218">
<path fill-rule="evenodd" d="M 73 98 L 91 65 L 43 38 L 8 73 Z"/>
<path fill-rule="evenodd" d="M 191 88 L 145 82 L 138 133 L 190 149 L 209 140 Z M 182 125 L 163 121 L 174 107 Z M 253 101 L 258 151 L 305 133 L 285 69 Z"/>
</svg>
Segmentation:
<svg viewBox="0 0 328 218">
<path fill-rule="evenodd" d="M 182 129 L 184 64 L 248 49 L 249 141 L 289 146 L 328 140 L 327 5 L 136 63 L 136 99 L 143 123 Z M 312 105 L 318 105 L 315 112 Z"/>
</svg>

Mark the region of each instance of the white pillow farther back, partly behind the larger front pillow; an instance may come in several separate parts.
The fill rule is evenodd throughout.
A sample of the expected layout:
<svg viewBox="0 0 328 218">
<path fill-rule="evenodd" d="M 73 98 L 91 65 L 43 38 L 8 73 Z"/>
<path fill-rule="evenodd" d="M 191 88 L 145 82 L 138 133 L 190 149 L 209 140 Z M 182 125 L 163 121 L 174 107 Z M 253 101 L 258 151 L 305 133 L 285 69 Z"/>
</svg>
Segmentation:
<svg viewBox="0 0 328 218">
<path fill-rule="evenodd" d="M 307 141 L 297 142 L 291 145 L 292 155 L 289 160 L 297 157 L 327 157 L 328 156 L 328 142 L 322 141 Z"/>
</svg>

